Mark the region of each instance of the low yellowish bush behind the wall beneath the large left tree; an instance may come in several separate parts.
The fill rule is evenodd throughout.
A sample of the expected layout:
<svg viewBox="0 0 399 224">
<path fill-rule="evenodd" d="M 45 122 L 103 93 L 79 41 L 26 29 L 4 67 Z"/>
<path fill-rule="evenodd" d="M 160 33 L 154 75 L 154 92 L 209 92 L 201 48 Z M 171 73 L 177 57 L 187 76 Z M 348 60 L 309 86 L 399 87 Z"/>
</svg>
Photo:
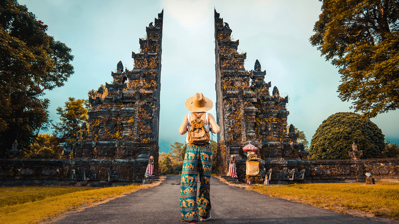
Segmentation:
<svg viewBox="0 0 399 224">
<path fill-rule="evenodd" d="M 32 159 L 59 159 L 62 155 L 62 147 L 59 145 L 59 139 L 50 134 L 39 134 L 32 143 L 25 158 Z"/>
</svg>

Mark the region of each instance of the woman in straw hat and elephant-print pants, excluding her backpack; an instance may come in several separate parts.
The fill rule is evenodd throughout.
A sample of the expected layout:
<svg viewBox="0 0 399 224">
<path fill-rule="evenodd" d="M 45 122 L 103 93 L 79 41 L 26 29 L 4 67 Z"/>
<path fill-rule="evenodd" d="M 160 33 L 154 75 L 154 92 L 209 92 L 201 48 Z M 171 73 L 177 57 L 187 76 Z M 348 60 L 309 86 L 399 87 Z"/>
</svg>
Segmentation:
<svg viewBox="0 0 399 224">
<path fill-rule="evenodd" d="M 180 135 L 184 135 L 192 128 L 192 120 L 204 124 L 203 126 L 208 132 L 219 132 L 219 126 L 216 124 L 215 118 L 211 114 L 204 113 L 213 106 L 210 99 L 204 97 L 202 93 L 196 93 L 186 101 L 185 106 L 192 113 L 184 117 L 183 123 L 179 128 Z M 189 221 L 189 223 L 197 223 L 198 217 L 200 217 L 201 221 L 207 221 L 211 218 L 209 186 L 212 169 L 212 148 L 209 140 L 207 141 L 203 144 L 189 144 L 188 135 L 186 138 L 187 148 L 180 183 L 180 211 L 183 221 Z M 198 196 L 197 174 L 199 174 L 200 178 Z"/>
</svg>

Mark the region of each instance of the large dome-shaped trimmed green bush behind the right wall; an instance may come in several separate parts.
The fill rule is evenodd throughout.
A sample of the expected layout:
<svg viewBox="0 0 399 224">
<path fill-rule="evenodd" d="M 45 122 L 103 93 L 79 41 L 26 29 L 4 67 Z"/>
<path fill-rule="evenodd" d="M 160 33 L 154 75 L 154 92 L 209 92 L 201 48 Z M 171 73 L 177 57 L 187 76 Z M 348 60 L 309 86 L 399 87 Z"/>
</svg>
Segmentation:
<svg viewBox="0 0 399 224">
<path fill-rule="evenodd" d="M 385 137 L 369 119 L 356 113 L 331 115 L 317 128 L 309 148 L 311 160 L 350 159 L 352 143 L 363 150 L 361 159 L 376 158 L 384 150 Z"/>
</svg>

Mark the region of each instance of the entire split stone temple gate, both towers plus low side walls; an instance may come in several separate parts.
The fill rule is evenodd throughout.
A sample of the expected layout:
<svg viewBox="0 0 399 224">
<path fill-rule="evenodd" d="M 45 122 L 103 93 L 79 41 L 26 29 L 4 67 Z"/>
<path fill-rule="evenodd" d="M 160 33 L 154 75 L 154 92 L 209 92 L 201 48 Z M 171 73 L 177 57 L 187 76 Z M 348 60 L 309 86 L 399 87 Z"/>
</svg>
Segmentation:
<svg viewBox="0 0 399 224">
<path fill-rule="evenodd" d="M 295 182 L 364 182 L 369 172 L 376 181 L 399 181 L 399 159 L 302 160 L 302 144 L 294 127 L 287 130 L 285 105 L 277 87 L 270 93 L 258 60 L 244 68 L 246 54 L 219 13 L 215 18 L 216 117 L 218 175 L 226 175 L 235 156 L 238 180 L 246 177 L 247 154 L 255 145 L 259 174 L 271 184 Z M 79 141 L 66 151 L 68 159 L 0 159 L 0 185 L 109 186 L 142 182 L 149 156 L 158 172 L 163 11 L 146 28 L 140 52 L 132 52 L 134 69 L 122 62 L 111 73 L 113 82 L 90 93 L 91 108 Z M 13 149 L 11 149 L 13 150 Z M 15 150 L 17 150 L 15 148 Z"/>
</svg>

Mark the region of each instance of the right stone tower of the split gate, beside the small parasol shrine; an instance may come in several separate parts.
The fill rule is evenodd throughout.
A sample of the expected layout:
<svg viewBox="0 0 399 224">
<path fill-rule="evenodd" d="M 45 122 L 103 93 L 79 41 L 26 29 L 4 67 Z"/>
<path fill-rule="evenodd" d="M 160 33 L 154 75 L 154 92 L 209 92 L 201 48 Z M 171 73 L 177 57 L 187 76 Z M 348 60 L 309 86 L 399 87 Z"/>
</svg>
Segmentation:
<svg viewBox="0 0 399 224">
<path fill-rule="evenodd" d="M 237 174 L 243 180 L 245 163 L 242 159 L 246 159 L 246 153 L 242 147 L 248 142 L 259 148 L 258 154 L 264 161 L 261 166 L 273 167 L 275 174 L 284 172 L 287 161 L 298 161 L 301 153 L 305 153 L 303 145 L 296 141 L 294 127 L 291 125 L 287 131 L 290 113 L 285 105 L 288 97 L 280 97 L 276 86 L 270 94 L 271 82 L 264 81 L 266 72 L 261 71 L 258 60 L 254 70 L 245 70 L 247 54 L 237 52 L 239 41 L 231 40 L 229 24 L 224 23 L 216 10 L 214 15 L 216 113 L 220 125 L 217 174 L 226 174 L 230 155 L 235 155 Z M 276 165 L 276 159 L 282 166 Z M 262 172 L 264 178 L 264 167 Z"/>
</svg>

